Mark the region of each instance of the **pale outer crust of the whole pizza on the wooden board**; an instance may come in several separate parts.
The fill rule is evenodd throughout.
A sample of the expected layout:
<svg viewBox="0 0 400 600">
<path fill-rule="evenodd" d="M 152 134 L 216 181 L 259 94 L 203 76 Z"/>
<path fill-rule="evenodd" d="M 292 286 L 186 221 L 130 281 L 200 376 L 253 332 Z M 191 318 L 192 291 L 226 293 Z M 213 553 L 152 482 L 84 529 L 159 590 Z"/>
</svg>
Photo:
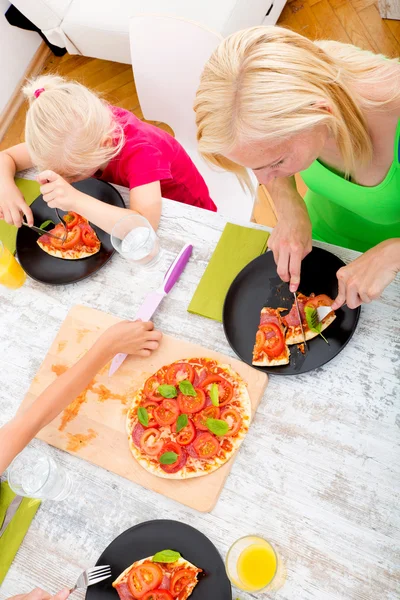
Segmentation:
<svg viewBox="0 0 400 600">
<path fill-rule="evenodd" d="M 211 359 L 213 360 L 213 359 Z M 182 359 L 175 362 L 179 363 L 191 363 L 192 365 L 196 364 L 196 359 Z M 213 362 L 216 362 L 213 360 Z M 172 363 L 174 364 L 174 363 Z M 149 473 L 156 475 L 157 477 L 162 477 L 164 479 L 192 479 L 194 477 L 202 477 L 204 475 L 208 475 L 209 473 L 213 473 L 217 469 L 219 469 L 222 465 L 227 463 L 232 456 L 236 453 L 237 449 L 243 442 L 246 433 L 249 430 L 250 422 L 251 422 L 251 400 L 249 393 L 247 391 L 247 385 L 243 381 L 243 379 L 232 369 L 230 365 L 223 365 L 217 363 L 217 366 L 220 369 L 223 369 L 226 374 L 226 378 L 232 383 L 234 381 L 234 387 L 237 391 L 237 397 L 240 401 L 240 407 L 235 405 L 235 409 L 237 409 L 242 416 L 242 427 L 236 436 L 222 438 L 228 439 L 231 442 L 232 449 L 230 451 L 225 451 L 223 457 L 215 456 L 211 459 L 196 459 L 188 454 L 187 461 L 185 466 L 177 471 L 176 473 L 166 473 L 159 463 L 156 460 L 151 460 L 151 457 L 144 454 L 133 442 L 132 432 L 135 426 L 138 423 L 137 419 L 137 408 L 143 400 L 143 389 L 144 385 L 136 392 L 132 404 L 128 410 L 127 418 L 126 418 L 126 432 L 128 434 L 128 444 L 132 455 L 135 457 L 137 462 Z M 229 404 L 228 404 L 229 406 Z M 164 430 L 164 431 L 163 431 Z M 161 431 L 161 439 L 163 436 L 166 441 L 171 438 L 170 433 L 168 433 L 166 428 L 160 428 Z"/>
</svg>

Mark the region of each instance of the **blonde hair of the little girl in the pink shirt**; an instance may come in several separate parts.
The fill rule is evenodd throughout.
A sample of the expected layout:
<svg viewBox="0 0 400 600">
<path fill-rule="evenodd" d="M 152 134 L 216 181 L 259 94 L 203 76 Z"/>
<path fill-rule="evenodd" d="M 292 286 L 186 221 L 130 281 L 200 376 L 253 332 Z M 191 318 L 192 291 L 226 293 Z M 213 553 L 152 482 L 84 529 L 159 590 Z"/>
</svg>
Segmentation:
<svg viewBox="0 0 400 600">
<path fill-rule="evenodd" d="M 110 106 L 75 81 L 55 75 L 30 80 L 25 140 L 40 170 L 84 178 L 110 161 L 124 145 L 124 131 Z"/>
</svg>

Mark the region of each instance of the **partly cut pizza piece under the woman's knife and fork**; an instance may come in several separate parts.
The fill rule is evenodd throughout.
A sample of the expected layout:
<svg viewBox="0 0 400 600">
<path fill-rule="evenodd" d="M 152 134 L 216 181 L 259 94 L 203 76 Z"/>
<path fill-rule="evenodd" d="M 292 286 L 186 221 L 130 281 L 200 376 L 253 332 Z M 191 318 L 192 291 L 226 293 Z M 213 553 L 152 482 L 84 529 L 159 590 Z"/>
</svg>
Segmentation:
<svg viewBox="0 0 400 600">
<path fill-rule="evenodd" d="M 306 340 L 312 340 L 314 337 L 319 335 L 318 331 L 312 331 L 307 322 L 306 313 L 309 309 L 315 309 L 319 306 L 332 306 L 333 300 L 329 298 L 326 294 L 319 294 L 315 296 L 315 294 L 310 294 L 310 296 L 305 296 L 304 294 L 297 294 L 297 302 L 299 305 L 299 312 L 301 317 L 301 322 L 303 325 L 304 335 Z M 330 312 L 324 319 L 321 321 L 321 332 L 324 331 L 329 325 L 334 321 L 336 315 L 334 311 Z M 296 304 L 293 303 L 292 308 L 289 313 L 282 318 L 283 323 L 287 327 L 286 331 L 286 343 L 290 346 L 293 344 L 301 344 L 303 342 L 303 335 L 301 333 L 299 315 L 297 312 Z"/>
</svg>

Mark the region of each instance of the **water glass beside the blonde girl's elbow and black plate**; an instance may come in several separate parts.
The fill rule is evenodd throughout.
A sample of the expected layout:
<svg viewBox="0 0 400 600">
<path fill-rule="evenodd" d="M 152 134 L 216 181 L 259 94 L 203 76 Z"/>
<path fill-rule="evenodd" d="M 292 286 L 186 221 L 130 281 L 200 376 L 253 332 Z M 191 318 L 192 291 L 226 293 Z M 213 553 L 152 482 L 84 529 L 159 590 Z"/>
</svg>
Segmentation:
<svg viewBox="0 0 400 600">
<path fill-rule="evenodd" d="M 156 232 L 142 215 L 127 215 L 111 231 L 111 243 L 127 260 L 139 265 L 153 265 L 160 257 Z"/>
</svg>

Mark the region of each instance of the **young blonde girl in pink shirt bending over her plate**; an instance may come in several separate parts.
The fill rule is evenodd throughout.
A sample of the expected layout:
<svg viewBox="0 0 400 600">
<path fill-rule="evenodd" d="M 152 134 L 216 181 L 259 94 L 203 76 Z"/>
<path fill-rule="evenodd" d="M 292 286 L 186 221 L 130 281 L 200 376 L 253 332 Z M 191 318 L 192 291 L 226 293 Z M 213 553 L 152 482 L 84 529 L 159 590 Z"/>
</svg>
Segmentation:
<svg viewBox="0 0 400 600">
<path fill-rule="evenodd" d="M 0 218 L 20 227 L 30 208 L 14 184 L 16 171 L 35 166 L 51 208 L 75 211 L 108 233 L 128 212 L 156 229 L 161 198 L 216 211 L 207 186 L 182 146 L 165 131 L 110 106 L 83 85 L 41 76 L 24 94 L 26 142 L 0 153 Z M 70 184 L 97 177 L 130 189 L 130 209 L 105 204 Z"/>
</svg>

